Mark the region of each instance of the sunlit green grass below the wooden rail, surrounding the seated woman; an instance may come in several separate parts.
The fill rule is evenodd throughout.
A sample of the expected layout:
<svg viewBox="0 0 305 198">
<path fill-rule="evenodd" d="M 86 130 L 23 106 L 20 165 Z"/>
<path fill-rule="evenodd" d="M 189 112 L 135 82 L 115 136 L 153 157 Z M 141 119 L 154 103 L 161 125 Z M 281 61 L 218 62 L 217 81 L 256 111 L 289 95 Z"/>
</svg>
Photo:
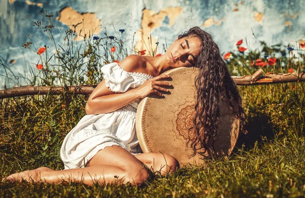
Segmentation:
<svg viewBox="0 0 305 198">
<path fill-rule="evenodd" d="M 156 178 L 142 187 L 2 182 L 0 194 L 4 197 L 304 196 L 304 110 L 298 103 L 304 99 L 303 86 L 299 83 L 294 90 L 288 84 L 240 87 L 240 92 L 248 115 L 249 134 L 239 136 L 237 147 L 228 159 L 208 161 L 205 167 L 189 165 L 163 177 L 156 173 Z M 84 115 L 85 101 L 84 96 L 66 100 L 60 96 L 4 99 L 0 126 L 1 175 L 41 166 L 63 169 L 59 148 L 65 134 Z"/>
</svg>

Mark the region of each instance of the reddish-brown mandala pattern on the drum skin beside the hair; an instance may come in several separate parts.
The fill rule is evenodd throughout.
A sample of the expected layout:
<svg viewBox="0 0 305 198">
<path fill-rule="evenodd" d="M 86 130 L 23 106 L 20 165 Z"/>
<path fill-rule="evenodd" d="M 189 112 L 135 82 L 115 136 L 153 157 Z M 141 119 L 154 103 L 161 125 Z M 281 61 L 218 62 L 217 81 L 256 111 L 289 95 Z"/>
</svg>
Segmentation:
<svg viewBox="0 0 305 198">
<path fill-rule="evenodd" d="M 193 118 L 194 118 L 194 109 L 195 105 L 187 105 L 183 107 L 180 112 L 177 114 L 176 118 L 176 130 L 179 135 L 182 136 L 185 140 L 194 139 L 195 134 L 192 129 L 189 134 L 189 129 L 193 127 Z"/>
</svg>

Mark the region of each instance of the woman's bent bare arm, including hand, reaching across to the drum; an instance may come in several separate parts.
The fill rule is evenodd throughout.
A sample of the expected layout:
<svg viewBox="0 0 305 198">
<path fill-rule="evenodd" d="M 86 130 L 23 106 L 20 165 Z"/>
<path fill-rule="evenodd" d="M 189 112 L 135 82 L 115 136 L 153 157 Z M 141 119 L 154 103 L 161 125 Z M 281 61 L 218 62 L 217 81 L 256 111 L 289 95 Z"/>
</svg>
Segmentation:
<svg viewBox="0 0 305 198">
<path fill-rule="evenodd" d="M 145 81 L 141 86 L 135 89 L 130 89 L 125 93 L 114 93 L 110 91 L 103 80 L 90 95 L 86 104 L 87 114 L 108 113 L 117 110 L 139 98 L 145 98 L 149 94 L 157 94 L 160 97 L 163 95 L 160 91 L 167 92 L 160 86 L 170 86 L 169 83 L 160 81 L 163 78 L 169 77 L 162 74 Z"/>
</svg>

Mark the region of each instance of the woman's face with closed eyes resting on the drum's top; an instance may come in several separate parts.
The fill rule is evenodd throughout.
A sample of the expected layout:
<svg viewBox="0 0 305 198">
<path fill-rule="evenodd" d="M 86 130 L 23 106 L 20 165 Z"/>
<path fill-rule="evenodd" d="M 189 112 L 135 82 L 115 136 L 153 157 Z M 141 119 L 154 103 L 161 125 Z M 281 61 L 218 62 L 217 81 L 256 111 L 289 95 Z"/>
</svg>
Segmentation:
<svg viewBox="0 0 305 198">
<path fill-rule="evenodd" d="M 197 37 L 175 39 L 166 51 L 166 62 L 171 67 L 195 66 L 201 42 Z"/>
</svg>

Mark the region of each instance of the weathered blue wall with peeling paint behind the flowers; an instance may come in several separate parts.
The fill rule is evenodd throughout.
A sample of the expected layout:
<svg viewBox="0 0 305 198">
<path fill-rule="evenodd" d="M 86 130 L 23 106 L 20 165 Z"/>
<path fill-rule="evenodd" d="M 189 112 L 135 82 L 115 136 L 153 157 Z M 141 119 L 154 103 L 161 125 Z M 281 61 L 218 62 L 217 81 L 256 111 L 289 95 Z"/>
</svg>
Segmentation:
<svg viewBox="0 0 305 198">
<path fill-rule="evenodd" d="M 245 38 L 248 47 L 255 48 L 253 32 L 258 40 L 270 45 L 282 43 L 296 46 L 300 40 L 305 39 L 304 0 L 32 1 L 0 0 L 0 55 L 8 61 L 15 59 L 16 62 L 10 66 L 19 68 L 19 71 L 26 61 L 29 64 L 37 62 L 33 52 L 21 47 L 27 41 L 25 35 L 37 31 L 32 22 L 25 19 L 26 15 L 31 15 L 32 20 L 40 20 L 39 12 L 48 10 L 55 18 L 65 7 L 71 7 L 78 13 L 95 13 L 103 27 L 97 35 L 103 34 L 104 27 L 111 33 L 113 25 L 116 29 L 126 29 L 127 33 L 140 29 L 144 32 L 142 35 L 145 31 L 147 33 L 147 28 L 143 27 L 150 20 L 148 15 L 143 16 L 143 9 L 146 8 L 145 11 L 156 13 L 157 18 L 154 20 L 161 20 L 161 25 L 151 29 L 152 36 L 156 39 L 159 36 L 161 44 L 165 42 L 165 38 L 167 43 L 170 43 L 180 32 L 197 25 L 211 32 L 223 53 L 236 50 L 235 44 L 239 39 L 244 39 L 245 46 Z M 170 7 L 173 7 L 173 10 L 169 10 Z M 162 10 L 166 10 L 167 14 L 161 16 Z M 175 14 L 176 16 L 173 16 Z M 158 16 L 161 16 L 161 19 L 158 19 Z M 54 25 L 62 30 L 68 28 L 57 20 L 54 20 Z M 139 37 L 141 34 L 137 35 Z M 60 39 L 60 35 L 57 35 L 57 38 Z M 45 44 L 43 38 L 36 39 L 36 42 Z M 138 48 L 141 48 L 140 43 Z M 159 50 L 162 53 L 162 49 Z"/>
</svg>

